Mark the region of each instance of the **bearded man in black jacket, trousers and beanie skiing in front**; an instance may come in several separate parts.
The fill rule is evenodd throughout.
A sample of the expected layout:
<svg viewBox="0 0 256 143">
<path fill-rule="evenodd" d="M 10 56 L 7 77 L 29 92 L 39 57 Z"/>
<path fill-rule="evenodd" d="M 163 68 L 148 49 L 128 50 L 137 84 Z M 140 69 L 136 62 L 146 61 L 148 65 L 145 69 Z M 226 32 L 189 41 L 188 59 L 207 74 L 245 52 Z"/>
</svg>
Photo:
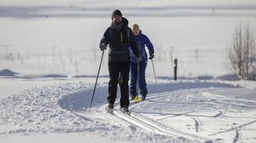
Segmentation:
<svg viewBox="0 0 256 143">
<path fill-rule="evenodd" d="M 128 113 L 128 106 L 130 104 L 128 86 L 130 74 L 129 47 L 133 50 L 133 54 L 135 54 L 138 62 L 141 61 L 141 58 L 133 32 L 128 27 L 128 20 L 123 17 L 119 9 L 112 12 L 112 24 L 105 30 L 101 38 L 101 51 L 107 49 L 108 44 L 108 72 L 110 80 L 108 82 L 108 107 L 106 110 L 108 112 L 113 110 L 120 74 L 120 77 L 122 77 L 122 82 L 119 82 L 121 90 L 120 108 L 124 113 Z"/>
</svg>

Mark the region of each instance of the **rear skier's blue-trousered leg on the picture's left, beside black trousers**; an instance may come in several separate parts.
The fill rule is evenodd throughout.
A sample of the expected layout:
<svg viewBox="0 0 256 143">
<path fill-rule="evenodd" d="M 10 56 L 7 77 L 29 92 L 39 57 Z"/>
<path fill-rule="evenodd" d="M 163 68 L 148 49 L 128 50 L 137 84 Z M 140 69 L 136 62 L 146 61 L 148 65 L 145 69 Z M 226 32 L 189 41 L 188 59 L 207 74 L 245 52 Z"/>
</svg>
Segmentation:
<svg viewBox="0 0 256 143">
<path fill-rule="evenodd" d="M 130 97 L 137 96 L 137 63 L 130 63 Z"/>
</svg>

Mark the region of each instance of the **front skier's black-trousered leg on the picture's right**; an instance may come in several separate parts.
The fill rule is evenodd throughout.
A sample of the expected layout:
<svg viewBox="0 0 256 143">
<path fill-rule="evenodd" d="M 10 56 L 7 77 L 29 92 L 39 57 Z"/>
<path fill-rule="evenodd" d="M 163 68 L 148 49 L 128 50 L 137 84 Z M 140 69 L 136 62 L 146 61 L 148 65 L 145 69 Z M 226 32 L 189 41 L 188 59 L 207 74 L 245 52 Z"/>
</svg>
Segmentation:
<svg viewBox="0 0 256 143">
<path fill-rule="evenodd" d="M 120 99 L 120 107 L 128 107 L 130 102 L 129 102 L 129 73 L 130 73 L 130 62 L 127 63 L 121 63 L 121 68 L 120 68 L 120 74 L 123 77 L 123 82 L 120 85 L 120 90 L 121 90 L 121 99 Z"/>
</svg>

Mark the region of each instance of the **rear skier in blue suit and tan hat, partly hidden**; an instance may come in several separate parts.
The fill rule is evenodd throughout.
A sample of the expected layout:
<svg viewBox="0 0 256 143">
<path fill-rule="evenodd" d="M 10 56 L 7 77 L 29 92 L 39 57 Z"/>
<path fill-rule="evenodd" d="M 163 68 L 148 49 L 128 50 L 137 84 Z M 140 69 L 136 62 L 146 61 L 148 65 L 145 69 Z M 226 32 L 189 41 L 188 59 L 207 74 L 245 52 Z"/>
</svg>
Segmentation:
<svg viewBox="0 0 256 143">
<path fill-rule="evenodd" d="M 146 96 L 148 94 L 146 79 L 145 79 L 145 71 L 148 64 L 148 54 L 145 50 L 145 46 L 148 47 L 149 51 L 149 59 L 154 58 L 154 47 L 153 44 L 151 44 L 151 41 L 148 39 L 146 35 L 141 33 L 140 26 L 137 24 L 133 24 L 132 27 L 133 35 L 135 36 L 135 40 L 137 42 L 137 45 L 139 47 L 139 54 L 142 58 L 142 61 L 137 63 L 136 56 L 133 54 L 133 51 L 130 51 L 130 97 L 131 99 L 134 99 L 138 96 L 137 92 L 137 76 L 139 76 L 139 89 L 140 89 L 140 95 L 141 100 L 144 101 L 146 99 Z M 139 71 L 139 74 L 137 74 L 137 71 Z"/>
</svg>

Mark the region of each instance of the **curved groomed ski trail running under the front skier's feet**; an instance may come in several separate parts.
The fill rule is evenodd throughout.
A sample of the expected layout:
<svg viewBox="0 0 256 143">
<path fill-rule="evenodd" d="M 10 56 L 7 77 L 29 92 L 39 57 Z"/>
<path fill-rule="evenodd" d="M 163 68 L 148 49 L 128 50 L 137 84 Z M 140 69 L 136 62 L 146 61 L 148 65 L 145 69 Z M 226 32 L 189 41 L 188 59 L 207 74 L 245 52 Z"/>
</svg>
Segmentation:
<svg viewBox="0 0 256 143">
<path fill-rule="evenodd" d="M 208 91 L 211 89 L 189 89 L 189 90 L 182 90 L 182 91 L 176 91 L 176 92 L 164 92 L 160 96 L 158 94 L 151 94 L 148 96 L 147 100 L 151 99 L 162 99 L 166 96 L 172 96 L 172 95 L 182 95 L 182 94 L 187 94 L 190 92 L 194 92 L 195 94 L 197 92 L 202 92 L 202 91 Z M 147 101 L 144 101 L 147 102 Z M 142 102 L 143 103 L 143 102 Z M 198 136 L 197 134 L 190 134 L 184 131 L 177 130 L 176 128 L 173 127 L 167 127 L 164 124 L 161 124 L 158 121 L 151 120 L 148 117 L 144 117 L 140 115 L 140 112 L 135 111 L 133 113 L 133 106 L 138 106 L 140 103 L 135 104 L 133 101 L 130 103 L 130 110 L 131 114 L 130 116 L 127 115 L 126 113 L 122 113 L 119 110 L 119 101 L 116 100 L 116 103 L 114 105 L 114 112 L 113 114 L 107 113 L 105 110 L 105 107 L 108 106 L 108 103 L 102 103 L 97 106 L 95 106 L 92 110 L 94 110 L 95 113 L 98 113 L 99 116 L 104 117 L 107 120 L 112 120 L 112 123 L 116 124 L 126 124 L 126 125 L 133 125 L 136 127 L 139 127 L 143 129 L 144 131 L 150 131 L 156 134 L 163 134 L 163 135 L 169 135 L 171 137 L 183 137 L 183 138 L 189 138 L 191 140 L 195 141 L 211 141 L 211 138 L 207 138 L 204 136 Z M 186 116 L 186 114 L 184 114 Z M 194 118 L 191 117 L 193 120 Z M 195 123 L 196 124 L 196 123 Z M 199 127 L 199 124 L 197 123 L 197 127 Z"/>
</svg>

